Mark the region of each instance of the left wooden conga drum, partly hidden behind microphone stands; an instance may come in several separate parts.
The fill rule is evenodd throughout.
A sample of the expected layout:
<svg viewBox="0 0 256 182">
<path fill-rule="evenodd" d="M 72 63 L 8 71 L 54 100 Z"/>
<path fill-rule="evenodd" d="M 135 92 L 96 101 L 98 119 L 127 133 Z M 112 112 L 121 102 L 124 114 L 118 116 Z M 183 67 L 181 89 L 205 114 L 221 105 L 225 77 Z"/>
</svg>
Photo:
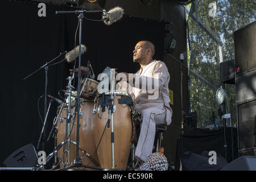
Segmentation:
<svg viewBox="0 0 256 182">
<path fill-rule="evenodd" d="M 80 128 L 79 128 L 79 156 L 82 157 L 81 162 L 82 164 L 86 166 L 93 166 L 93 167 L 100 167 L 98 162 L 98 156 L 96 153 L 96 146 L 93 138 L 93 127 L 94 127 L 94 119 L 95 115 L 93 112 L 93 101 L 88 101 L 84 99 L 80 99 Z M 64 154 L 64 146 L 63 148 L 60 148 L 60 150 L 57 152 L 57 155 L 60 157 L 60 159 L 63 158 L 64 154 L 64 160 L 60 163 L 60 167 L 63 168 L 64 164 L 67 164 L 69 161 L 69 164 L 65 165 L 65 167 L 72 165 L 74 160 L 76 159 L 76 135 L 77 135 L 77 115 L 75 119 L 71 119 L 70 123 L 67 123 L 67 110 L 68 107 L 63 107 L 61 110 L 60 118 L 57 121 L 57 145 L 59 145 L 61 142 L 65 141 L 65 130 L 66 125 L 69 125 L 69 129 L 71 131 L 70 134 L 70 140 L 71 143 L 69 144 L 69 154 L 68 152 L 65 152 Z M 72 110 L 73 111 L 73 105 Z M 67 124 L 66 124 L 67 123 Z M 68 146 L 68 143 L 66 143 L 65 146 Z M 67 150 L 67 147 L 66 147 Z M 95 152 L 95 155 L 94 155 Z M 94 155 L 94 157 L 93 157 Z M 69 158 L 69 160 L 68 160 Z M 90 168 L 86 168 L 86 170 L 92 170 Z"/>
</svg>

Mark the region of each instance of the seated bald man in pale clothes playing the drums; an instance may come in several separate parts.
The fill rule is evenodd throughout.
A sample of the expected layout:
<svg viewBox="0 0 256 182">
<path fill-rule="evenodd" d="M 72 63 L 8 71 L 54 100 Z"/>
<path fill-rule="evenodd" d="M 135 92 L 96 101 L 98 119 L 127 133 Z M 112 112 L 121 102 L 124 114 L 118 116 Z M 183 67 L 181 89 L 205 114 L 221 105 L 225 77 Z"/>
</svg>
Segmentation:
<svg viewBox="0 0 256 182">
<path fill-rule="evenodd" d="M 133 62 L 139 63 L 141 69 L 133 76 L 131 73 L 121 72 L 127 78 L 126 81 L 133 85 L 137 109 L 141 112 L 141 133 L 135 150 L 135 158 L 141 164 L 152 153 L 155 125 L 170 125 L 172 121 L 168 89 L 170 74 L 163 61 L 152 59 L 154 53 L 154 44 L 149 41 L 138 42 L 133 51 Z M 117 81 L 120 80 L 122 79 Z"/>
</svg>

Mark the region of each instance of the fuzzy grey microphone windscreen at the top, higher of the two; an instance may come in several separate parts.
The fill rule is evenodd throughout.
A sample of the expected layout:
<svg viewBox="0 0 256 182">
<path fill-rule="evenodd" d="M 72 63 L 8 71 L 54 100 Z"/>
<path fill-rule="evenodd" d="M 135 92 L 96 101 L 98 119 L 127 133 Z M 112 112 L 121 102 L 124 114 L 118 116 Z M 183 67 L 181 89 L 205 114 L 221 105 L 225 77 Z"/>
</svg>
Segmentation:
<svg viewBox="0 0 256 182">
<path fill-rule="evenodd" d="M 110 25 L 114 22 L 117 22 L 119 19 L 121 19 L 124 13 L 125 11 L 119 6 L 114 7 L 112 10 L 109 10 L 107 13 L 106 13 L 106 10 L 103 10 L 103 15 L 102 15 L 103 22 L 106 25 Z"/>
</svg>

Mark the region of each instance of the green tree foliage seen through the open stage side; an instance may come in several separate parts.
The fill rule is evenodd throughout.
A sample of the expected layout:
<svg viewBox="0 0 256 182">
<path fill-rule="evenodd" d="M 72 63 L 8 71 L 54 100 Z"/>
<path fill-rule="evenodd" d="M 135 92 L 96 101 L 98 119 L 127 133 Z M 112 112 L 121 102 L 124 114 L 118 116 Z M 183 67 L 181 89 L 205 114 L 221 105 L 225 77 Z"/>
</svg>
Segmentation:
<svg viewBox="0 0 256 182">
<path fill-rule="evenodd" d="M 216 16 L 209 14 L 210 3 L 216 3 Z M 253 0 L 197 0 L 197 7 L 199 19 L 223 44 L 223 61 L 234 59 L 233 32 L 255 20 L 255 2 Z M 196 22 L 191 18 L 188 19 L 188 26 L 191 48 L 196 52 L 194 59 L 188 60 L 188 66 L 216 88 L 220 88 L 218 44 L 201 28 L 197 36 Z M 188 51 L 188 57 L 190 54 L 191 51 Z M 190 74 L 190 81 L 191 111 L 196 111 L 199 116 L 197 127 L 207 126 L 213 111 L 217 121 L 221 123 L 217 112 L 220 106 L 216 103 L 216 90 L 192 74 Z M 225 89 L 228 95 L 226 113 L 232 114 L 234 125 L 237 122 L 235 87 L 225 84 Z"/>
</svg>

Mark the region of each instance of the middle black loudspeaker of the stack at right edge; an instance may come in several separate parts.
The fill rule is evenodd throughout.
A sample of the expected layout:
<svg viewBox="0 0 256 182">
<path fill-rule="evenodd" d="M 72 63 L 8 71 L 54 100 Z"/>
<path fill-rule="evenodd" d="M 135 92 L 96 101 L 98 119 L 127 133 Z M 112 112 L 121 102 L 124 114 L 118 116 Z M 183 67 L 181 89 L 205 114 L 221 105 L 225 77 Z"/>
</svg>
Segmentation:
<svg viewBox="0 0 256 182">
<path fill-rule="evenodd" d="M 237 104 L 254 99 L 256 99 L 256 68 L 236 77 Z"/>
</svg>

